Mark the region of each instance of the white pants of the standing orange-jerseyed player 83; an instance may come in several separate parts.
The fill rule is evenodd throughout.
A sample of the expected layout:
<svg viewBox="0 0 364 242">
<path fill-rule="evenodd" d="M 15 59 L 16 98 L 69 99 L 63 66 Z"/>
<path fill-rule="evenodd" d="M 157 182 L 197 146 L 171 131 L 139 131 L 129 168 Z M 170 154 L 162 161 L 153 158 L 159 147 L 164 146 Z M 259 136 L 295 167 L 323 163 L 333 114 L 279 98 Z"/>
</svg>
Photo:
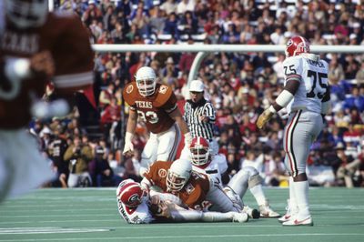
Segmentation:
<svg viewBox="0 0 364 242">
<path fill-rule="evenodd" d="M 177 124 L 174 124 L 163 133 L 150 133 L 142 152 L 140 166 L 147 168 L 156 160 L 174 161 L 180 141 L 181 132 Z"/>
</svg>

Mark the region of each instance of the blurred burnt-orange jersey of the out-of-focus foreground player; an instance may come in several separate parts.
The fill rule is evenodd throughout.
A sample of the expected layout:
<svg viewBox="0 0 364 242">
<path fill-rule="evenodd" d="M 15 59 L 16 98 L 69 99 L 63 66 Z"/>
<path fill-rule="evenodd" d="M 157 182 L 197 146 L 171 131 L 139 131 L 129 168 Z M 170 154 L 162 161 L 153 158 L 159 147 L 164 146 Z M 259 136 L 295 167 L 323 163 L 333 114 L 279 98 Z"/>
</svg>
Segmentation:
<svg viewBox="0 0 364 242">
<path fill-rule="evenodd" d="M 44 25 L 27 29 L 9 22 L 0 41 L 0 58 L 5 61 L 49 51 L 56 67 L 56 90 L 71 93 L 93 82 L 94 54 L 91 46 L 85 45 L 89 43 L 88 33 L 76 15 L 49 13 Z M 21 82 L 2 77 L 1 93 L 12 96 L 0 95 L 0 128 L 26 126 L 31 118 L 31 96 L 43 96 L 48 81 L 39 75 Z"/>
</svg>

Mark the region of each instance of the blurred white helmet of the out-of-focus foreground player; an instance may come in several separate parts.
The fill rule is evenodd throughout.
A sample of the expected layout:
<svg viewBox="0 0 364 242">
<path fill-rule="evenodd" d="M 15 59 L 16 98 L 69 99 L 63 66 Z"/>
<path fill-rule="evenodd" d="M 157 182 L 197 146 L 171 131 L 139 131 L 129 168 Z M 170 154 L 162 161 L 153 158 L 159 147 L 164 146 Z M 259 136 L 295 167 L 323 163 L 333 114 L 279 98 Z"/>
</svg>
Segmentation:
<svg viewBox="0 0 364 242">
<path fill-rule="evenodd" d="M 19 28 L 45 24 L 48 13 L 46 0 L 5 0 L 6 16 Z"/>
</svg>

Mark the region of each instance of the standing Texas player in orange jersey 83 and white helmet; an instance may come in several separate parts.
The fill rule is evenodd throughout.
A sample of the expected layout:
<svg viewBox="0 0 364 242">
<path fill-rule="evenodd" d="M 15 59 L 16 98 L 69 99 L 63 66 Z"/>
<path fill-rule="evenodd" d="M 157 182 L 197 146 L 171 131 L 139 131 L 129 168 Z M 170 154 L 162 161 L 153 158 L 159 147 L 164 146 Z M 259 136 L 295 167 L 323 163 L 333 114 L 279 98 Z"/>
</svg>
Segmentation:
<svg viewBox="0 0 364 242">
<path fill-rule="evenodd" d="M 185 142 L 191 143 L 192 137 L 177 108 L 177 98 L 172 88 L 158 84 L 156 73 L 151 67 L 143 66 L 137 70 L 136 81 L 124 88 L 123 97 L 130 106 L 123 154 L 126 156 L 133 154 L 132 139 L 136 132 L 138 117 L 145 122 L 150 132 L 141 162 L 134 164 L 136 169 L 140 170 L 140 175 L 156 160 L 175 159 L 181 140 L 180 130 L 185 136 Z"/>
</svg>

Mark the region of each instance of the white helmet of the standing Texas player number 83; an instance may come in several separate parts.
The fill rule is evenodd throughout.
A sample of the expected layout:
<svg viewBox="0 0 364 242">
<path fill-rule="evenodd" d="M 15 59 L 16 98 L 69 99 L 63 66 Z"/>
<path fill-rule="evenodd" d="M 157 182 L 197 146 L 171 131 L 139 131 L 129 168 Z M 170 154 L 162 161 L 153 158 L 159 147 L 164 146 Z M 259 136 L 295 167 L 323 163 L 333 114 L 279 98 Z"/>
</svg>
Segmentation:
<svg viewBox="0 0 364 242">
<path fill-rule="evenodd" d="M 156 72 L 149 66 L 143 66 L 136 72 L 136 86 L 141 96 L 151 96 L 156 91 Z"/>
</svg>

